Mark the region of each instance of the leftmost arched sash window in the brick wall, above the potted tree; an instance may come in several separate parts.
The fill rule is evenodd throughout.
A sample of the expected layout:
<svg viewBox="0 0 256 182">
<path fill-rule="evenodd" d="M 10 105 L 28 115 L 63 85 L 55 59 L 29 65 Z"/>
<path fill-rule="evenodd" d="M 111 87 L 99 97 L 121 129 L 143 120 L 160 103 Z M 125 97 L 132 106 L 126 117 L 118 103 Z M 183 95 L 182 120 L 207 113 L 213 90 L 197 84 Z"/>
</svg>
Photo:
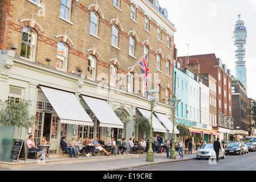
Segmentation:
<svg viewBox="0 0 256 182">
<path fill-rule="evenodd" d="M 36 44 L 36 33 L 31 28 L 23 27 L 21 57 L 34 60 L 35 47 L 36 47 L 35 44 Z"/>
</svg>

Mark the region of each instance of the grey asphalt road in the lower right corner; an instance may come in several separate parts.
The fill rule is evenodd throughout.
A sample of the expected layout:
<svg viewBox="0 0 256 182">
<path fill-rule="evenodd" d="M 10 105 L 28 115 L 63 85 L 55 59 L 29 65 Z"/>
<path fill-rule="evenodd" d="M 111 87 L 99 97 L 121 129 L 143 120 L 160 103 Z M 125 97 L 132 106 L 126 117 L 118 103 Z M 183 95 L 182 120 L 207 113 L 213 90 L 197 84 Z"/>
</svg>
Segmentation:
<svg viewBox="0 0 256 182">
<path fill-rule="evenodd" d="M 256 152 L 244 155 L 226 155 L 214 164 L 208 159 L 190 160 L 178 163 L 161 164 L 141 168 L 127 169 L 127 171 L 255 171 Z"/>
</svg>

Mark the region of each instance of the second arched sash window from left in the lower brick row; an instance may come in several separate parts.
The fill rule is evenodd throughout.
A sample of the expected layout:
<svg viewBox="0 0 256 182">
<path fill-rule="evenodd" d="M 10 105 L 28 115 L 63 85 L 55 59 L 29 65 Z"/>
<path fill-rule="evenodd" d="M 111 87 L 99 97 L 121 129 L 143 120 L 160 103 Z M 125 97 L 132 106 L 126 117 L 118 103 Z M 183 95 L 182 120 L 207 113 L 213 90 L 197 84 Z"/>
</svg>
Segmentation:
<svg viewBox="0 0 256 182">
<path fill-rule="evenodd" d="M 56 69 L 65 70 L 67 64 L 67 46 L 58 42 Z"/>
</svg>

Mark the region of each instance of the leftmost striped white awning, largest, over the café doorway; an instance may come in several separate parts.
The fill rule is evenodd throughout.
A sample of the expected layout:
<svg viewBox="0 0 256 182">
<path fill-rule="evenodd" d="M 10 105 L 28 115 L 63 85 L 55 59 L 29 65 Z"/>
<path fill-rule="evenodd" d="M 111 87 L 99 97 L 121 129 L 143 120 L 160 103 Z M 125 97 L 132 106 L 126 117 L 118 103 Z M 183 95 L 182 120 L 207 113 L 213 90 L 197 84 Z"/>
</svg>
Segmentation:
<svg viewBox="0 0 256 182">
<path fill-rule="evenodd" d="M 75 94 L 40 86 L 58 114 L 60 123 L 94 126 L 94 122 L 76 99 Z"/>
</svg>

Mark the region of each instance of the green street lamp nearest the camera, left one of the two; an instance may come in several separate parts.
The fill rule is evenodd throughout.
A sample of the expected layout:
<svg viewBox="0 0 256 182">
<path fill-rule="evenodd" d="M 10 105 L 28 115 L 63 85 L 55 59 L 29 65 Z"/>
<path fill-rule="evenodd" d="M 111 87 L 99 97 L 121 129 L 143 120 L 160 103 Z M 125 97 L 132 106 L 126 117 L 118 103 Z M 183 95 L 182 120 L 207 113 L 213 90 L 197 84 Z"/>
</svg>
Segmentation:
<svg viewBox="0 0 256 182">
<path fill-rule="evenodd" d="M 151 88 L 146 91 L 148 100 L 151 104 L 151 123 L 150 123 L 150 134 L 149 134 L 149 146 L 148 146 L 148 152 L 147 152 L 147 162 L 154 162 L 153 159 L 153 150 L 152 150 L 152 120 L 153 120 L 153 108 L 155 106 L 156 99 L 158 97 L 159 92 L 154 89 L 154 86 L 151 85 Z"/>
</svg>

